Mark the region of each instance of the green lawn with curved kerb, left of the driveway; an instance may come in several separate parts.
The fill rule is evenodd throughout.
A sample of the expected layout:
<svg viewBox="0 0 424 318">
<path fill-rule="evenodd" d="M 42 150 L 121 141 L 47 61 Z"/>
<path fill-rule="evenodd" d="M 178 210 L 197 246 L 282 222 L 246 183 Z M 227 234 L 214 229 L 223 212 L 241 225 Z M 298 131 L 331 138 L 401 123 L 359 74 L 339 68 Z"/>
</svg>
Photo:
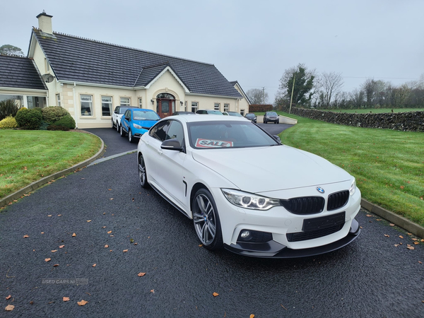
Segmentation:
<svg viewBox="0 0 424 318">
<path fill-rule="evenodd" d="M 0 130 L 0 198 L 86 160 L 101 141 L 76 131 Z"/>
</svg>

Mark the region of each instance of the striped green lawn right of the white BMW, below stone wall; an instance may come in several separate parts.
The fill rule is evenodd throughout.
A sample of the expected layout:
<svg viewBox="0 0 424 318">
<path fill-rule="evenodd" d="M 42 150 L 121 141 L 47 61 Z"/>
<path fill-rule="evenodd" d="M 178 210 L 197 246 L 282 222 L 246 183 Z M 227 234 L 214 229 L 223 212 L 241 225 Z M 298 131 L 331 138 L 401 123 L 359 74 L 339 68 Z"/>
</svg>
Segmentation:
<svg viewBox="0 0 424 318">
<path fill-rule="evenodd" d="M 355 176 L 363 198 L 424 226 L 424 134 L 298 119 L 281 141 Z M 284 168 L 284 167 L 283 167 Z"/>
</svg>

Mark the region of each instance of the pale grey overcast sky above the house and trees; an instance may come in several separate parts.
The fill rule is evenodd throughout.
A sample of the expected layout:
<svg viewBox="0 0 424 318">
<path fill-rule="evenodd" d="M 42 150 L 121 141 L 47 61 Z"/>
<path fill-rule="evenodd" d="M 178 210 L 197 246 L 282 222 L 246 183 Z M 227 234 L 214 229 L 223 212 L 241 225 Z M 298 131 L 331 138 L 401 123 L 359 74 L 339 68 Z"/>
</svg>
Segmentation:
<svg viewBox="0 0 424 318">
<path fill-rule="evenodd" d="M 285 69 L 399 85 L 424 73 L 424 0 L 1 1 L 0 46 L 28 54 L 42 11 L 55 32 L 215 64 L 273 102 Z"/>
</svg>

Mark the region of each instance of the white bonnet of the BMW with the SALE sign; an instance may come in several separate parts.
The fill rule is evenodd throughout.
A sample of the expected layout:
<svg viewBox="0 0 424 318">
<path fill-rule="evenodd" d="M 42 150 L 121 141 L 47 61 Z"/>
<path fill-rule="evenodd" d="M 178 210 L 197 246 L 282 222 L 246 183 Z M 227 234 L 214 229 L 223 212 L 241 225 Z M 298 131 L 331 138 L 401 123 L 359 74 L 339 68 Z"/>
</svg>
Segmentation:
<svg viewBox="0 0 424 318">
<path fill-rule="evenodd" d="M 348 172 L 324 158 L 289 146 L 194 149 L 192 156 L 239 189 L 252 193 L 351 179 Z"/>
</svg>

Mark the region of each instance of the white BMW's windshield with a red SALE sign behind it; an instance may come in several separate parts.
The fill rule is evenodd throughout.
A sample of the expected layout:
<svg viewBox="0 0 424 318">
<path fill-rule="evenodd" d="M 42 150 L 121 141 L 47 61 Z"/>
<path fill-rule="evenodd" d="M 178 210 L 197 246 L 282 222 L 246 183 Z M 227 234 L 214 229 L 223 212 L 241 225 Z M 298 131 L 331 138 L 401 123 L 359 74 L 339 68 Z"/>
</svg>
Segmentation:
<svg viewBox="0 0 424 318">
<path fill-rule="evenodd" d="M 278 143 L 252 122 L 189 122 L 192 148 L 249 148 L 277 146 Z"/>
</svg>

